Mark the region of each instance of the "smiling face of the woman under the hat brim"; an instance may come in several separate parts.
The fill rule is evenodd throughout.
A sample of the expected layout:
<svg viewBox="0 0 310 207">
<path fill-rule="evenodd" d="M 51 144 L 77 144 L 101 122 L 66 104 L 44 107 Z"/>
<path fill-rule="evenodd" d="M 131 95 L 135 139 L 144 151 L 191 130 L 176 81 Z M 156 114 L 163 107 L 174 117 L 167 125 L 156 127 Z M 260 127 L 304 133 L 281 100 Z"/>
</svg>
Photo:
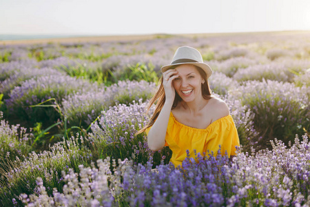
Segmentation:
<svg viewBox="0 0 310 207">
<path fill-rule="evenodd" d="M 191 102 L 197 97 L 202 97 L 201 84 L 205 80 L 200 76 L 196 66 L 183 64 L 175 69 L 178 71 L 178 77 L 174 79 L 173 86 L 181 99 Z"/>
</svg>

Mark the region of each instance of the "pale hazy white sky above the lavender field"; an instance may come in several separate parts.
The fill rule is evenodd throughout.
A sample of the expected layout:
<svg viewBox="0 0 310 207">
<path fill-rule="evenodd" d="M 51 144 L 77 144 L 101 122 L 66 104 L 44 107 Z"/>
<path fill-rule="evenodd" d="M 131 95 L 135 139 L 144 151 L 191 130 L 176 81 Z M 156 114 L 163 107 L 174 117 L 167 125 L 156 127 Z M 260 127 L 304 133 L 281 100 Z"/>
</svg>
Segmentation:
<svg viewBox="0 0 310 207">
<path fill-rule="evenodd" d="M 310 30 L 309 0 L 0 0 L 0 34 Z"/>
</svg>

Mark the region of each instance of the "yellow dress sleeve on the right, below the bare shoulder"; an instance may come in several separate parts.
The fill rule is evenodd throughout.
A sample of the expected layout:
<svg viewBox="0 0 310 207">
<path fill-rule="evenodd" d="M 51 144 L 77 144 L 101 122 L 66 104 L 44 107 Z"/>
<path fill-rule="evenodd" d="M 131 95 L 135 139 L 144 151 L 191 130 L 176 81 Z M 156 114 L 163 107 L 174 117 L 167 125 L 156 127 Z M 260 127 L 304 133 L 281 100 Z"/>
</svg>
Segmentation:
<svg viewBox="0 0 310 207">
<path fill-rule="evenodd" d="M 236 147 L 240 146 L 240 141 L 231 115 L 218 119 L 212 124 L 206 143 L 206 154 L 209 155 L 212 151 L 216 156 L 220 148 L 221 155 L 225 155 L 225 152 L 228 157 L 236 155 Z"/>
</svg>

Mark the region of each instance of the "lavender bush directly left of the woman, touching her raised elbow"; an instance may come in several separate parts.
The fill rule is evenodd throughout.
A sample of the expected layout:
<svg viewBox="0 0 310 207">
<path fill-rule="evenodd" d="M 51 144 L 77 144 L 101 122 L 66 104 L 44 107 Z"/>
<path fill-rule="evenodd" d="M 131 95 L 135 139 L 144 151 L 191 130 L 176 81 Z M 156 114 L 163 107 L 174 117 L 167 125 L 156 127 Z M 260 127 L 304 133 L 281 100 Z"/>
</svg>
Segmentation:
<svg viewBox="0 0 310 207">
<path fill-rule="evenodd" d="M 94 146 L 93 155 L 98 159 L 132 159 L 134 164 L 146 164 L 153 157 L 154 164 L 160 164 L 162 159 L 168 162 L 172 155 L 169 148 L 155 152 L 154 155 L 147 146 L 145 136 L 135 136 L 149 120 L 149 115 L 145 114 L 146 105 L 140 99 L 130 106 L 119 104 L 103 111 L 100 119 L 91 126 L 89 137 Z"/>
</svg>

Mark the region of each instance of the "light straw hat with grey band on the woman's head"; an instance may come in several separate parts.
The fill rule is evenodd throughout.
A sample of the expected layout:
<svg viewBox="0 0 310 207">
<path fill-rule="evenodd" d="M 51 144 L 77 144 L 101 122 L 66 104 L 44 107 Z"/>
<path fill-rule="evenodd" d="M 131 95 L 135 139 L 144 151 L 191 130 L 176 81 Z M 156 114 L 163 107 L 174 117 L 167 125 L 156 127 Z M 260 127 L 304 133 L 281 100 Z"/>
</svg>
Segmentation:
<svg viewBox="0 0 310 207">
<path fill-rule="evenodd" d="M 203 57 L 201 57 L 200 52 L 195 48 L 191 48 L 189 46 L 183 46 L 176 50 L 174 53 L 174 58 L 172 62 L 168 66 L 163 66 L 161 68 L 161 72 L 165 72 L 170 68 L 175 68 L 174 66 L 182 65 L 182 64 L 192 64 L 194 66 L 198 66 L 203 69 L 207 74 L 207 79 L 211 76 L 212 70 L 210 66 L 203 62 Z"/>
</svg>

